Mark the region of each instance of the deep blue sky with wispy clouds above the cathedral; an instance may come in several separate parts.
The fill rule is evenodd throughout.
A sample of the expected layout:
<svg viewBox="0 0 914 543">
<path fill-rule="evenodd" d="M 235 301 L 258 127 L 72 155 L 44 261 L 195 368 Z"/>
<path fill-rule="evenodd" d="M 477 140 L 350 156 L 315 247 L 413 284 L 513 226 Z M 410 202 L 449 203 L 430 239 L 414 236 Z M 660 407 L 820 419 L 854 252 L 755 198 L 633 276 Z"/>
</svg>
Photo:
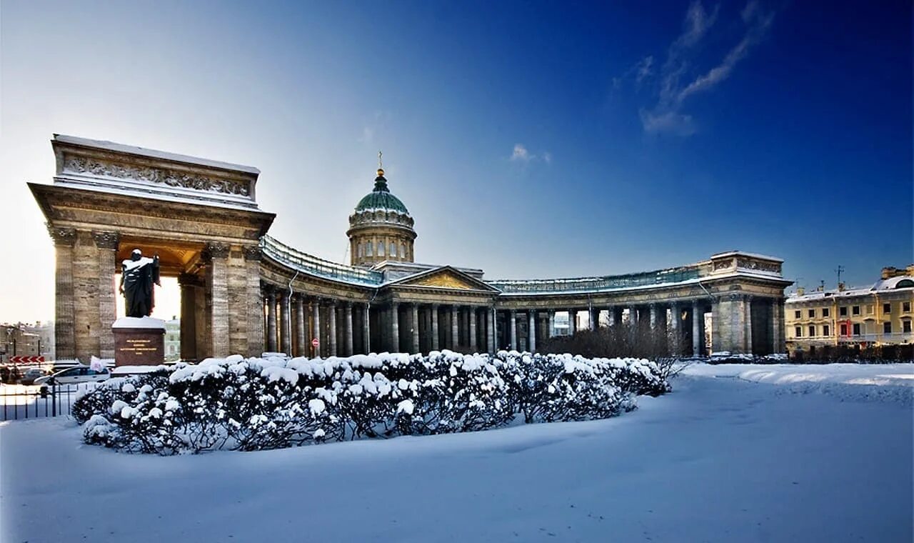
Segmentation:
<svg viewBox="0 0 914 543">
<path fill-rule="evenodd" d="M 909 3 L 566 4 L 5 1 L 0 320 L 53 315 L 52 133 L 256 165 L 335 261 L 378 149 L 417 260 L 490 279 L 914 261 Z"/>
</svg>

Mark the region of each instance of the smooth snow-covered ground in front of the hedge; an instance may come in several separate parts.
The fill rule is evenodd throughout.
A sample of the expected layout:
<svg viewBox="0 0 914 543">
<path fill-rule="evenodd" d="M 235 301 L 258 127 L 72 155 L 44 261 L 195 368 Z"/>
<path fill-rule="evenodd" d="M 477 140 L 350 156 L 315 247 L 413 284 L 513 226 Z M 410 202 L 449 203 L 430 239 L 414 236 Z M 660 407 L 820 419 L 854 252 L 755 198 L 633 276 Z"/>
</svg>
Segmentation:
<svg viewBox="0 0 914 543">
<path fill-rule="evenodd" d="M 912 386 L 699 365 L 608 421 L 177 457 L 3 422 L 0 540 L 910 541 Z"/>
</svg>

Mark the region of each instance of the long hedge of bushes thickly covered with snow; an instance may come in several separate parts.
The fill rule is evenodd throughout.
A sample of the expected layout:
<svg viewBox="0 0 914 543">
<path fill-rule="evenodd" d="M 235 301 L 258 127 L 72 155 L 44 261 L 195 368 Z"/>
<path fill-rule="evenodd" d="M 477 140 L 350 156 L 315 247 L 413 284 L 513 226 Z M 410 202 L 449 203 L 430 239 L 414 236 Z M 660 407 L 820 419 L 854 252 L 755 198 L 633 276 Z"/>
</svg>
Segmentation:
<svg viewBox="0 0 914 543">
<path fill-rule="evenodd" d="M 207 358 L 102 383 L 73 406 L 85 442 L 126 452 L 311 442 L 603 419 L 669 389 L 653 362 L 500 351 Z"/>
</svg>

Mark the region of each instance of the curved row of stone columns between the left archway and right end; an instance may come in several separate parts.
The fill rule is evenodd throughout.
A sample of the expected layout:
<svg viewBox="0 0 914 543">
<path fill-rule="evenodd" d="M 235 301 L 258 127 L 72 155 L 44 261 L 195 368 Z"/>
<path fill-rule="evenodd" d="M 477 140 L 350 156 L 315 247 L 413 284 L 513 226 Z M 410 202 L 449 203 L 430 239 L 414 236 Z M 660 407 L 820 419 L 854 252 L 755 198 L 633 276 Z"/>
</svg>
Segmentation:
<svg viewBox="0 0 914 543">
<path fill-rule="evenodd" d="M 721 345 L 735 346 L 736 352 L 768 354 L 780 352 L 779 342 L 783 341 L 780 301 L 748 295 L 603 307 L 505 309 L 396 300 L 349 302 L 302 293 L 290 295 L 269 285 L 264 286 L 263 293 L 264 350 L 292 356 L 348 357 L 441 349 L 537 352 L 558 332 L 558 312 L 569 313 L 569 335 L 585 327 L 624 326 L 632 337 L 638 331 L 665 337 L 670 354 L 675 356 L 708 355 L 712 349 L 720 350 Z M 708 313 L 712 314 L 713 328 L 706 331 Z M 315 338 L 317 346 L 313 345 Z"/>
</svg>

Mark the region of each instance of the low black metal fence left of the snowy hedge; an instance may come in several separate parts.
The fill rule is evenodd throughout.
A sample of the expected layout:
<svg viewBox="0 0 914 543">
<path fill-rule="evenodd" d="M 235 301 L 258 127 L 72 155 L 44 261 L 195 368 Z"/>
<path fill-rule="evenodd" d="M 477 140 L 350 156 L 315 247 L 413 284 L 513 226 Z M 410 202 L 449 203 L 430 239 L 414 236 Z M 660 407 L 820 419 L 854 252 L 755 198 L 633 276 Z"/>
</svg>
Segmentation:
<svg viewBox="0 0 914 543">
<path fill-rule="evenodd" d="M 0 421 L 69 415 L 73 402 L 95 383 L 0 386 Z"/>
</svg>

